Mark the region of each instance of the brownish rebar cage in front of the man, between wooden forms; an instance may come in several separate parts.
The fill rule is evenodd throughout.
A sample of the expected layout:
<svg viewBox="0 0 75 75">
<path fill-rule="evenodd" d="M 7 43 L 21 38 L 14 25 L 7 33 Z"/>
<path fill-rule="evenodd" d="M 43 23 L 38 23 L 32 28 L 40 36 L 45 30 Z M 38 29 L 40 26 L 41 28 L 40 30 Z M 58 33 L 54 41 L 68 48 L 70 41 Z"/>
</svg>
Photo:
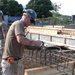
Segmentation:
<svg viewBox="0 0 75 75">
<path fill-rule="evenodd" d="M 29 53 L 25 54 L 27 55 L 28 58 L 26 61 L 33 63 L 32 67 L 37 67 L 38 65 L 38 66 L 50 66 L 53 68 L 54 66 L 56 66 L 58 71 L 64 73 L 71 71 L 72 75 L 74 75 L 74 67 L 72 68 L 69 63 L 70 61 L 75 60 L 74 50 L 67 49 L 66 47 L 63 46 L 51 46 L 51 47 L 44 47 L 41 50 L 30 49 L 27 51 Z"/>
</svg>

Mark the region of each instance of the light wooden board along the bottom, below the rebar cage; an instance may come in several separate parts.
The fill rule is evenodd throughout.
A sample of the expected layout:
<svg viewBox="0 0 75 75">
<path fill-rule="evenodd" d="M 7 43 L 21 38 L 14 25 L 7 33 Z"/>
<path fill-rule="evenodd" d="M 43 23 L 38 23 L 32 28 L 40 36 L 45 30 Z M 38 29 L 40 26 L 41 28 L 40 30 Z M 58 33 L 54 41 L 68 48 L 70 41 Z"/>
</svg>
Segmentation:
<svg viewBox="0 0 75 75">
<path fill-rule="evenodd" d="M 74 61 L 71 61 L 69 63 L 71 67 L 70 71 L 67 71 L 67 69 L 65 69 L 65 71 L 60 72 L 57 70 L 56 66 L 54 65 L 52 68 L 49 66 L 44 66 L 44 67 L 26 69 L 24 75 L 75 75 L 73 68 Z"/>
</svg>

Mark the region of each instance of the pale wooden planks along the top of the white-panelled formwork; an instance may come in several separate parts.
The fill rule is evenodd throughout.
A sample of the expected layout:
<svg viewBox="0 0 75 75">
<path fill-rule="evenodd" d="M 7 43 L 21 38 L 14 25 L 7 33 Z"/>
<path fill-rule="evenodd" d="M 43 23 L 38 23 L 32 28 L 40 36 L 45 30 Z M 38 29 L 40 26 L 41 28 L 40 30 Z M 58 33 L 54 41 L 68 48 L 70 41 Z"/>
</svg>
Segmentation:
<svg viewBox="0 0 75 75">
<path fill-rule="evenodd" d="M 32 33 L 40 33 L 41 34 L 66 34 L 70 36 L 75 36 L 75 29 L 67 29 L 64 27 L 35 27 L 30 26 L 27 28 L 28 31 Z"/>
</svg>

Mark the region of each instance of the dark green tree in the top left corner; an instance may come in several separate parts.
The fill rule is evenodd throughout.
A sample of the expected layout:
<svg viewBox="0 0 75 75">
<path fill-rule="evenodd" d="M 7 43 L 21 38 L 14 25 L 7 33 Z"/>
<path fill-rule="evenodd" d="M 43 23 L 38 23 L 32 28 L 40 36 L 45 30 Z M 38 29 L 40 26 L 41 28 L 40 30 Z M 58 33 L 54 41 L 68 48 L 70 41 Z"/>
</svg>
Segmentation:
<svg viewBox="0 0 75 75">
<path fill-rule="evenodd" d="M 23 13 L 22 5 L 15 0 L 2 0 L 0 3 L 0 9 L 5 15 L 20 16 Z"/>
</svg>

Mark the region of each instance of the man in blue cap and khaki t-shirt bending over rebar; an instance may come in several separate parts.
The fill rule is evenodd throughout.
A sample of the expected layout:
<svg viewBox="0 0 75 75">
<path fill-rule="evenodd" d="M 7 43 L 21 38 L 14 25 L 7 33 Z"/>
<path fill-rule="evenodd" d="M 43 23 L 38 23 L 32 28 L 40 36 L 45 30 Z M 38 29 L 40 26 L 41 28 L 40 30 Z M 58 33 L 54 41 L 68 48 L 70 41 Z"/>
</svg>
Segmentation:
<svg viewBox="0 0 75 75">
<path fill-rule="evenodd" d="M 35 23 L 35 18 L 35 11 L 28 9 L 26 13 L 23 13 L 21 20 L 15 21 L 10 26 L 1 62 L 3 75 L 24 75 L 23 63 L 21 63 L 24 46 L 40 46 L 42 44 L 42 41 L 33 41 L 25 37 L 24 28 Z M 19 63 L 21 64 L 19 65 Z"/>
</svg>

